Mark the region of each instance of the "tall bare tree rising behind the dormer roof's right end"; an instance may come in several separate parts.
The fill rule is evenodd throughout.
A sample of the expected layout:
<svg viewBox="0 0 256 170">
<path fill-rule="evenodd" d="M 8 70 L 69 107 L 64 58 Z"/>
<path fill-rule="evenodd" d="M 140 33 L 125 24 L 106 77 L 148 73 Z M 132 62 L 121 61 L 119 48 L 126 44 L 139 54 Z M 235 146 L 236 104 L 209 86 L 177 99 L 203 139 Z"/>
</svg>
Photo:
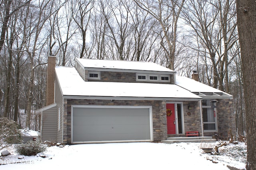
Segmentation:
<svg viewBox="0 0 256 170">
<path fill-rule="evenodd" d="M 177 25 L 184 0 L 134 0 L 134 2 L 159 22 L 163 33 L 161 45 L 166 54 L 168 68 L 174 70 Z"/>
</svg>

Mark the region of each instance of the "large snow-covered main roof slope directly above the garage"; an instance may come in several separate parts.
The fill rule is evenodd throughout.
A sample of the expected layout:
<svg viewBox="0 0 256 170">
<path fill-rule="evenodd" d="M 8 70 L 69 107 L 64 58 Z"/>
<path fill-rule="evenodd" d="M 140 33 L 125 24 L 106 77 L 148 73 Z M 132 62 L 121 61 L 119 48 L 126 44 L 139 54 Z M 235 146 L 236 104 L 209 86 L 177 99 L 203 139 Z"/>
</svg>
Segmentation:
<svg viewBox="0 0 256 170">
<path fill-rule="evenodd" d="M 62 94 L 66 97 L 124 97 L 154 99 L 202 99 L 171 84 L 84 81 L 74 67 L 55 67 Z"/>
</svg>

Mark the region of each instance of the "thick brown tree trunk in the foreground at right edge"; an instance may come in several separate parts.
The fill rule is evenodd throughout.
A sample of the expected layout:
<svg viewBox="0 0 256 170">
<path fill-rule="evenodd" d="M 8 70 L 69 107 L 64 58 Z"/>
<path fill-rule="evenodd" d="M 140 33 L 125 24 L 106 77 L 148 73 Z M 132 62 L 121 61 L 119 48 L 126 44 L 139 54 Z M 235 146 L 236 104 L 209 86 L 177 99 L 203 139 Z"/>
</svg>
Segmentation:
<svg viewBox="0 0 256 170">
<path fill-rule="evenodd" d="M 256 3 L 236 0 L 247 132 L 247 170 L 256 169 Z"/>
</svg>

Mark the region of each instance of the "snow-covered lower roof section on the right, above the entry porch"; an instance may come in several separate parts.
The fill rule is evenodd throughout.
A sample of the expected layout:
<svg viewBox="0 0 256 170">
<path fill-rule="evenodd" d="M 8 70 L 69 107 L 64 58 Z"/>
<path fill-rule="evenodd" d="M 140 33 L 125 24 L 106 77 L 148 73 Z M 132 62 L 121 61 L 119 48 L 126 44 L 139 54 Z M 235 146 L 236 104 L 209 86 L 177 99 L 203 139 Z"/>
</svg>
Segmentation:
<svg viewBox="0 0 256 170">
<path fill-rule="evenodd" d="M 232 95 L 190 79 L 176 75 L 176 84 L 203 98 L 232 99 Z"/>
</svg>

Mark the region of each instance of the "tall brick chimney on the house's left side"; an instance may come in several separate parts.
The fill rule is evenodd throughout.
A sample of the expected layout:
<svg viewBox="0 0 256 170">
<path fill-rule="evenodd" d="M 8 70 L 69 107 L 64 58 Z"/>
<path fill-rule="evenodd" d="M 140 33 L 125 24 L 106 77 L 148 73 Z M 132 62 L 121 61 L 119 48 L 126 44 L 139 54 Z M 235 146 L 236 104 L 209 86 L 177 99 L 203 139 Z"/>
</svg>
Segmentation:
<svg viewBox="0 0 256 170">
<path fill-rule="evenodd" d="M 46 106 L 54 103 L 56 57 L 48 56 L 47 79 L 46 79 Z"/>
</svg>

